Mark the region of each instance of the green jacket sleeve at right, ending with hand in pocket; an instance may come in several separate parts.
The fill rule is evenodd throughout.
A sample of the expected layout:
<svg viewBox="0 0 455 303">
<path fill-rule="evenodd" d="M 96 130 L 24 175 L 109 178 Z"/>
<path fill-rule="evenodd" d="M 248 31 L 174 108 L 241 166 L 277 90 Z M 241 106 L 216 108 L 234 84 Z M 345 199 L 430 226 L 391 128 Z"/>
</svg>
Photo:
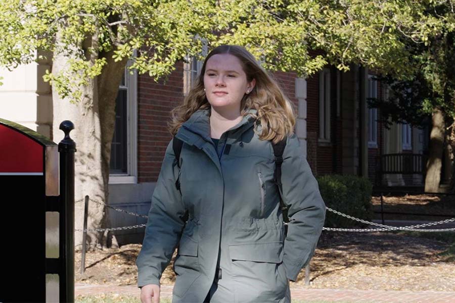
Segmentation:
<svg viewBox="0 0 455 303">
<path fill-rule="evenodd" d="M 282 197 L 288 207 L 288 232 L 283 263 L 288 279 L 295 281 L 314 254 L 326 217 L 319 185 L 295 134 L 288 136 L 282 164 Z"/>
</svg>

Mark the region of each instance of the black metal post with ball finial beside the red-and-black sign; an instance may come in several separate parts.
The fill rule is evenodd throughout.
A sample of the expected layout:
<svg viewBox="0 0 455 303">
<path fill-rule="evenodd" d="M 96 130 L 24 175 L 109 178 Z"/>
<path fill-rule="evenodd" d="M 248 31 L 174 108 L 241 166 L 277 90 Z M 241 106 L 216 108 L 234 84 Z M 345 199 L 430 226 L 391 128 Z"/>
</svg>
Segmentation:
<svg viewBox="0 0 455 303">
<path fill-rule="evenodd" d="M 74 153 L 76 143 L 69 133 L 71 121 L 60 124 L 65 137 L 59 143 L 60 153 L 60 260 L 64 269 L 60 276 L 60 301 L 74 302 Z"/>
</svg>

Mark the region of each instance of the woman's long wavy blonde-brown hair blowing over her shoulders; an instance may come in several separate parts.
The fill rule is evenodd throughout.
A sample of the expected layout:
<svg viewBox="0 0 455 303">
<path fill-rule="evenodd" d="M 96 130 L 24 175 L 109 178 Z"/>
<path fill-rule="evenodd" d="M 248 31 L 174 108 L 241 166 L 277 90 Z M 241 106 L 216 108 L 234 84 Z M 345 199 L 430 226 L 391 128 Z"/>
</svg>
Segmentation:
<svg viewBox="0 0 455 303">
<path fill-rule="evenodd" d="M 204 74 L 207 60 L 213 55 L 231 54 L 236 56 L 250 82 L 256 79 L 256 85 L 241 100 L 240 112 L 243 116 L 250 115 L 262 128 L 258 136 L 261 140 L 281 141 L 294 132 L 295 115 L 291 102 L 285 96 L 277 82 L 256 62 L 256 59 L 244 47 L 239 45 L 220 45 L 214 48 L 205 58 L 202 70 L 196 83 L 185 97 L 183 104 L 171 111 L 172 120 L 168 123 L 169 131 L 175 135 L 180 126 L 198 110 L 211 109 L 204 91 Z M 257 114 L 247 113 L 249 109 L 257 110 Z"/>
</svg>

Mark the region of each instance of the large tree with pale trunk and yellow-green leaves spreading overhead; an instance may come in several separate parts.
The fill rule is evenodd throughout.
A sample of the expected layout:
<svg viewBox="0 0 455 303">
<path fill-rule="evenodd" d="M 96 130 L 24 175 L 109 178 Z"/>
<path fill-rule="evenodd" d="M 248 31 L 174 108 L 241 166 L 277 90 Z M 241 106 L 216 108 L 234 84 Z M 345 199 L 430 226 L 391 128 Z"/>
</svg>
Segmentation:
<svg viewBox="0 0 455 303">
<path fill-rule="evenodd" d="M 0 0 L 0 65 L 13 69 L 52 56 L 45 80 L 53 89 L 54 129 L 63 119 L 77 125 L 75 198 L 89 194 L 107 203 L 115 97 L 128 59 L 131 69 L 158 79 L 197 55 L 205 39 L 209 47 L 244 45 L 269 70 L 308 76 L 328 63 L 340 70 L 358 63 L 399 77 L 414 68 L 403 36 L 426 41 L 439 31 L 440 20 L 424 14 L 432 3 Z M 311 56 L 312 49 L 323 55 Z M 91 207 L 88 228 L 103 226 L 103 208 Z M 77 222 L 80 216 L 76 211 Z M 89 233 L 90 246 L 99 241 Z"/>
</svg>

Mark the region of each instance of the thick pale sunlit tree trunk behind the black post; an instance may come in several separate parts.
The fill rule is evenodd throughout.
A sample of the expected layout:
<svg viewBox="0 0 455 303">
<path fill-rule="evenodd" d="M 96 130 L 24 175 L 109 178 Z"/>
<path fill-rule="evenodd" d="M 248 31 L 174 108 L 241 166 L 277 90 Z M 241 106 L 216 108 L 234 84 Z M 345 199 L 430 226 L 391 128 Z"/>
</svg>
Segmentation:
<svg viewBox="0 0 455 303">
<path fill-rule="evenodd" d="M 57 35 L 57 39 L 59 36 Z M 92 39 L 92 38 L 90 38 Z M 95 41 L 92 39 L 92 41 Z M 88 40 L 89 41 L 89 40 Z M 86 48 L 89 45 L 81 47 Z M 69 71 L 68 59 L 71 54 L 55 52 L 52 73 Z M 93 54 L 90 55 L 93 57 Z M 80 87 L 82 98 L 77 103 L 62 99 L 53 90 L 53 139 L 59 142 L 63 132 L 58 129 L 63 120 L 71 120 L 74 130 L 71 137 L 76 142 L 75 153 L 75 229 L 83 228 L 84 197 L 90 197 L 87 229 L 105 228 L 108 204 L 109 162 L 111 142 L 115 123 L 115 100 L 118 86 L 126 66 L 126 60 L 114 62 L 112 53 L 97 54 L 107 58 L 107 65 L 101 75 L 89 79 L 88 84 Z M 94 58 L 88 58 L 94 60 Z M 103 232 L 88 231 L 87 247 L 95 248 L 101 244 Z M 74 244 L 79 249 L 82 244 L 82 232 L 75 231 Z"/>
</svg>

